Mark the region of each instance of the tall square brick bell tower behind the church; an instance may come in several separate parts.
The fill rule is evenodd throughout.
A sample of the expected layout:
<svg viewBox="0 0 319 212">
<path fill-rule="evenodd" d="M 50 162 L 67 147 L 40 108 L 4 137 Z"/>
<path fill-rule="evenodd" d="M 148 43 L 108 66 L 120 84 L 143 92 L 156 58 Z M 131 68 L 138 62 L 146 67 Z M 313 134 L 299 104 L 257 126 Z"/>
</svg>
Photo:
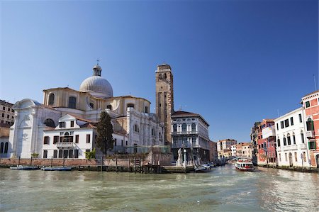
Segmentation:
<svg viewBox="0 0 319 212">
<path fill-rule="evenodd" d="M 167 64 L 157 65 L 156 79 L 156 114 L 164 123 L 165 145 L 172 144 L 171 115 L 174 113 L 174 90 L 172 69 Z"/>
</svg>

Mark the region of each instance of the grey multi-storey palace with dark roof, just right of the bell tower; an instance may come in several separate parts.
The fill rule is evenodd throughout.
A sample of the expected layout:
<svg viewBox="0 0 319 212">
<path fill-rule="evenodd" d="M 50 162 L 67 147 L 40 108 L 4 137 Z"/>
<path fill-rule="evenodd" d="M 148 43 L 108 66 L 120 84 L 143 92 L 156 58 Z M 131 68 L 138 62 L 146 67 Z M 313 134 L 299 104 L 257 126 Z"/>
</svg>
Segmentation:
<svg viewBox="0 0 319 212">
<path fill-rule="evenodd" d="M 194 161 L 210 161 L 210 143 L 208 122 L 198 113 L 175 111 L 172 113 L 172 156 L 178 159 L 178 150 L 186 149 L 188 159 Z M 193 155 L 193 156 L 191 156 Z"/>
</svg>

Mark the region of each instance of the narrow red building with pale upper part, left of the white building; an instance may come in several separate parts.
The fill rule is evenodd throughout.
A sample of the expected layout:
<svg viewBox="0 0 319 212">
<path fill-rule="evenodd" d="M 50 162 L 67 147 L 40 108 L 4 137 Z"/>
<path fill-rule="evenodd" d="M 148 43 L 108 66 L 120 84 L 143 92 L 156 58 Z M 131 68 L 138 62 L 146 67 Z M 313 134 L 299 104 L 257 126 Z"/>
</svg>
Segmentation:
<svg viewBox="0 0 319 212">
<path fill-rule="evenodd" d="M 263 119 L 258 131 L 257 163 L 275 165 L 276 135 L 274 132 L 274 120 Z"/>
</svg>

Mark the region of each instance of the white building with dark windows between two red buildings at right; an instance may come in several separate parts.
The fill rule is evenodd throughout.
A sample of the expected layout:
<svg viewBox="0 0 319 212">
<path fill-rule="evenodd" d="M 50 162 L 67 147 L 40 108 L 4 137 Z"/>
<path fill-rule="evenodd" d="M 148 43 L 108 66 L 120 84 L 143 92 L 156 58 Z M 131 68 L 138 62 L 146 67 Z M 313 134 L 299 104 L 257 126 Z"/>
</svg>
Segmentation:
<svg viewBox="0 0 319 212">
<path fill-rule="evenodd" d="M 279 166 L 309 167 L 304 122 L 303 107 L 274 120 Z"/>
</svg>

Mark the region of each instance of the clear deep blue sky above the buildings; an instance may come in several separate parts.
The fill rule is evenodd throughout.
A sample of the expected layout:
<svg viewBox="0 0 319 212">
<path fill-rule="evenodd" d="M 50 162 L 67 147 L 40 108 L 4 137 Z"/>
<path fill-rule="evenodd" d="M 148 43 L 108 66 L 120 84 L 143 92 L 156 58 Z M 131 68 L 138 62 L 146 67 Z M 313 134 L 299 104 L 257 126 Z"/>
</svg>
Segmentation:
<svg viewBox="0 0 319 212">
<path fill-rule="evenodd" d="M 155 107 L 155 69 L 174 108 L 201 113 L 217 141 L 301 106 L 318 84 L 318 1 L 1 1 L 0 99 L 79 89 L 96 59 L 114 96 Z M 318 85 L 317 85 L 318 88 Z"/>
</svg>

